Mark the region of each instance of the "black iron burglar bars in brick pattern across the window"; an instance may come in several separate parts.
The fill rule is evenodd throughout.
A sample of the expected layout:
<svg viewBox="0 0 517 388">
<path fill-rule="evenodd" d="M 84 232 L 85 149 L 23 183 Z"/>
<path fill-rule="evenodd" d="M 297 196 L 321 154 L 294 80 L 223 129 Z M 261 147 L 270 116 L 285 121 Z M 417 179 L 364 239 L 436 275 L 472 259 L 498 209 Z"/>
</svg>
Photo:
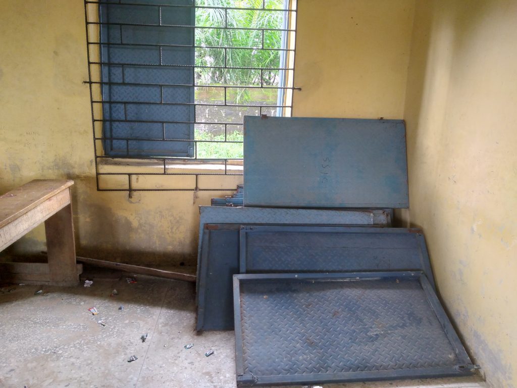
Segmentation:
<svg viewBox="0 0 517 388">
<path fill-rule="evenodd" d="M 253 0 L 249 0 L 251 4 L 256 3 Z M 164 3 L 162 0 L 161 3 Z M 199 148 L 202 144 L 242 144 L 242 141 L 235 141 L 228 139 L 229 130 L 238 130 L 242 127 L 242 116 L 244 113 L 257 114 L 257 115 L 292 115 L 292 93 L 294 87 L 294 57 L 295 57 L 295 41 L 296 41 L 296 0 L 286 0 L 285 5 L 282 9 L 271 9 L 267 7 L 266 0 L 262 0 L 261 7 L 246 7 L 249 2 L 238 2 L 238 7 L 225 7 L 225 6 L 211 6 L 203 4 L 203 0 L 187 1 L 186 5 L 177 4 L 160 4 L 160 1 L 148 1 L 146 3 L 138 2 L 124 2 L 124 0 L 117 1 L 94 1 L 85 0 L 85 21 L 86 21 L 86 43 L 87 43 L 87 58 L 88 58 L 88 81 L 90 91 L 90 102 L 92 107 L 92 122 L 93 122 L 93 137 L 94 137 L 94 151 L 95 151 L 95 167 L 97 176 L 97 189 L 99 191 L 229 191 L 234 190 L 237 183 L 241 183 L 242 176 L 242 158 L 201 158 L 199 157 Z M 214 3 L 212 3 L 214 4 Z M 116 5 L 122 7 L 141 7 L 142 10 L 145 7 L 158 8 L 159 11 L 159 24 L 154 23 L 122 23 L 122 22 L 105 22 L 101 21 L 99 16 L 100 7 L 102 5 L 113 6 Z M 162 23 L 162 10 L 165 8 L 181 8 L 181 9 L 214 9 L 224 12 L 224 25 L 223 26 L 198 26 L 198 25 L 184 25 L 184 24 L 171 24 Z M 267 27 L 239 27 L 228 25 L 229 11 L 258 11 L 258 12 L 284 12 L 284 24 L 282 28 L 267 28 Z M 119 42 L 106 42 L 101 40 L 101 28 L 102 26 L 118 26 L 120 28 L 120 41 Z M 180 28 L 180 29 L 193 29 L 192 44 L 173 44 L 173 43 L 131 43 L 123 41 L 123 27 L 154 27 L 154 28 Z M 196 30 L 199 29 L 214 29 L 214 30 L 226 30 L 226 31 L 250 31 L 257 32 L 260 34 L 260 44 L 250 45 L 249 47 L 238 47 L 232 46 L 231 44 L 222 44 L 221 46 L 204 46 L 196 44 Z M 267 47 L 265 46 L 264 35 L 267 32 L 280 32 L 283 35 L 285 43 L 282 47 Z M 159 62 L 158 63 L 125 63 L 125 62 L 110 62 L 102 58 L 101 50 L 104 47 L 149 47 L 158 48 L 159 50 Z M 168 48 L 186 48 L 186 49 L 209 49 L 209 50 L 224 50 L 224 62 L 221 64 L 210 64 L 199 65 L 197 63 L 197 57 L 194 57 L 192 64 L 167 64 L 163 62 L 163 53 Z M 260 66 L 229 66 L 228 56 L 232 54 L 232 50 L 267 50 L 270 52 L 280 52 L 280 62 L 278 67 L 260 67 Z M 194 54 L 195 55 L 195 54 Z M 119 67 L 122 75 L 122 82 L 114 82 L 103 80 L 102 66 L 113 66 Z M 170 69 L 191 69 L 191 83 L 175 83 L 175 82 L 126 82 L 124 79 L 125 69 L 128 67 L 138 68 L 170 68 Z M 248 71 L 254 70 L 260 74 L 260 80 L 255 84 L 203 84 L 202 82 L 196 82 L 196 70 L 199 69 L 220 69 L 224 72 L 227 71 Z M 265 71 L 278 71 L 280 80 L 278 84 L 266 84 L 264 80 Z M 127 77 L 126 77 L 127 78 Z M 199 81 L 199 77 L 198 80 Z M 155 102 L 148 101 L 133 101 L 130 99 L 121 100 L 103 100 L 102 88 L 105 85 L 117 87 L 127 86 L 146 86 L 146 87 L 159 87 L 160 100 Z M 197 91 L 200 88 L 209 88 L 210 90 L 220 91 L 220 96 L 223 97 L 222 101 L 216 102 L 170 102 L 164 100 L 164 90 L 168 88 L 192 88 Z M 233 101 L 230 94 L 238 93 L 245 89 L 256 90 L 260 89 L 265 91 L 267 89 L 275 89 L 279 91 L 280 97 L 276 104 L 274 103 L 254 103 L 256 101 Z M 124 118 L 106 118 L 104 117 L 103 106 L 116 105 L 117 107 L 124 107 Z M 128 107 L 138 106 L 157 106 L 157 107 L 192 107 L 193 108 L 193 120 L 175 120 L 171 117 L 170 120 L 136 120 L 134 118 L 128 118 Z M 199 117 L 197 110 L 201 108 L 237 108 L 241 109 L 243 114 L 240 114 L 238 121 L 224 120 L 203 120 Z M 169 117 L 167 117 L 169 118 Z M 146 137 L 115 137 L 113 134 L 107 136 L 104 132 L 105 123 L 146 123 L 146 124 L 161 124 L 162 133 L 161 137 L 146 136 Z M 189 139 L 175 139 L 166 136 L 166 125 L 202 125 L 202 126 L 218 126 L 224 133 L 224 140 L 199 140 L 195 138 Z M 222 133 L 221 133 L 222 135 Z M 110 155 L 105 152 L 104 147 L 107 141 L 118 141 L 125 142 L 126 150 L 125 153 L 118 155 Z M 130 150 L 130 142 L 164 142 L 169 144 L 181 144 L 181 142 L 188 142 L 193 145 L 192 155 L 189 157 L 185 156 L 170 156 L 170 155 L 132 155 Z M 218 178 L 217 181 L 211 180 L 213 175 L 222 175 L 223 177 Z M 163 178 L 167 176 L 168 178 Z M 173 182 L 165 182 L 164 180 L 173 180 Z M 208 180 L 204 182 L 204 180 Z M 144 181 L 144 184 L 142 184 Z M 145 183 L 146 182 L 146 183 Z M 227 186 L 227 187 L 225 187 Z"/>
</svg>

